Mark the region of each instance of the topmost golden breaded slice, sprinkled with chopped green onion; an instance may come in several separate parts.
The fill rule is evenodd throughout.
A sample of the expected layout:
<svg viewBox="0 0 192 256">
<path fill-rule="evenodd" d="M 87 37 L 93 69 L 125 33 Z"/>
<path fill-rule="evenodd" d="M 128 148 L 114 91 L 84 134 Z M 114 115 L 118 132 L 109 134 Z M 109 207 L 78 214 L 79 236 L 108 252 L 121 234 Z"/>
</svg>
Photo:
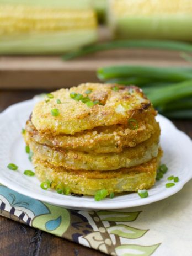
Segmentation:
<svg viewBox="0 0 192 256">
<path fill-rule="evenodd" d="M 60 89 L 53 92 L 54 98 L 49 102 L 43 100 L 35 105 L 32 122 L 41 134 L 75 134 L 98 126 L 115 124 L 126 125 L 130 118 L 145 118 L 151 110 L 150 101 L 143 95 L 140 88 L 135 86 L 118 86 L 115 84 L 86 83 L 70 89 Z M 86 90 L 91 100 L 98 100 L 103 105 L 87 106 L 81 101 L 74 100 L 70 93 L 76 92 L 86 97 Z M 57 104 L 57 99 L 61 104 Z M 52 116 L 51 110 L 57 108 L 58 116 Z"/>
</svg>

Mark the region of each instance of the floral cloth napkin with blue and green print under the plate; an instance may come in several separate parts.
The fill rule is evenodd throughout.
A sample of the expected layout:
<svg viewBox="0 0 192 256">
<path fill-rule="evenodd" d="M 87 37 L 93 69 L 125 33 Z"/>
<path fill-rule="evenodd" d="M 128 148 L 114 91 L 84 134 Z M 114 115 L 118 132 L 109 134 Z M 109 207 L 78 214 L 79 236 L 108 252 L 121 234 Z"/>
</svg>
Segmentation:
<svg viewBox="0 0 192 256">
<path fill-rule="evenodd" d="M 108 255 L 191 256 L 191 195 L 192 180 L 179 193 L 153 204 L 81 211 L 50 205 L 0 185 L 0 214 Z"/>
</svg>

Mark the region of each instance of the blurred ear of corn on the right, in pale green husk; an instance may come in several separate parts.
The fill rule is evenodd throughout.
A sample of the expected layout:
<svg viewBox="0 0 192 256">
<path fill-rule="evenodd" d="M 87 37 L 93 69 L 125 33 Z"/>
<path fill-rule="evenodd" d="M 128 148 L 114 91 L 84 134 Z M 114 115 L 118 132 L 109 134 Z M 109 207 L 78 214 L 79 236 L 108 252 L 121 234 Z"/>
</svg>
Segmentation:
<svg viewBox="0 0 192 256">
<path fill-rule="evenodd" d="M 192 41 L 192 1 L 109 0 L 108 23 L 116 38 Z"/>
</svg>

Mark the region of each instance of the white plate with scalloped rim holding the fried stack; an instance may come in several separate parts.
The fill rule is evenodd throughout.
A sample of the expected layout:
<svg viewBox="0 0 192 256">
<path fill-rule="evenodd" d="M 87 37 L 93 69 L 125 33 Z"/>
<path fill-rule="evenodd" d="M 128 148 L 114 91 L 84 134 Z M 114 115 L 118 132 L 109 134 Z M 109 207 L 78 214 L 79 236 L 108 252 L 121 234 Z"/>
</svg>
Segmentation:
<svg viewBox="0 0 192 256">
<path fill-rule="evenodd" d="M 162 163 L 167 164 L 169 170 L 161 181 L 156 182 L 153 188 L 148 190 L 148 198 L 141 199 L 137 193 L 131 193 L 95 202 L 91 196 L 77 198 L 71 195 L 60 195 L 53 190 L 42 190 L 38 179 L 23 174 L 26 169 L 33 170 L 28 155 L 25 153 L 21 130 L 25 126 L 35 102 L 36 100 L 33 99 L 15 104 L 0 114 L 0 182 L 18 193 L 50 204 L 75 209 L 120 209 L 150 204 L 167 198 L 177 193 L 192 178 L 192 142 L 190 138 L 179 131 L 167 118 L 158 115 L 157 120 L 162 130 L 161 146 L 164 151 Z M 19 170 L 16 172 L 9 170 L 8 163 L 17 164 Z M 175 183 L 172 188 L 166 188 L 167 177 L 170 175 L 178 176 L 179 182 Z"/>
</svg>

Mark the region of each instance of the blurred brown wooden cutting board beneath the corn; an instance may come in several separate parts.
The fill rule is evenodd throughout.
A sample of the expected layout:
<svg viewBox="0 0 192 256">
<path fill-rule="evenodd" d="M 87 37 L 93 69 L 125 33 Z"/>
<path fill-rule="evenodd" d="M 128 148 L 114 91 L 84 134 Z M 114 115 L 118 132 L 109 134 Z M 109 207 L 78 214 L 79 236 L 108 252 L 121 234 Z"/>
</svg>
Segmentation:
<svg viewBox="0 0 192 256">
<path fill-rule="evenodd" d="M 100 38 L 108 38 L 102 30 Z M 60 56 L 1 56 L 0 89 L 56 89 L 98 82 L 97 68 L 109 65 L 190 66 L 180 52 L 120 49 L 98 52 L 76 60 Z"/>
</svg>

